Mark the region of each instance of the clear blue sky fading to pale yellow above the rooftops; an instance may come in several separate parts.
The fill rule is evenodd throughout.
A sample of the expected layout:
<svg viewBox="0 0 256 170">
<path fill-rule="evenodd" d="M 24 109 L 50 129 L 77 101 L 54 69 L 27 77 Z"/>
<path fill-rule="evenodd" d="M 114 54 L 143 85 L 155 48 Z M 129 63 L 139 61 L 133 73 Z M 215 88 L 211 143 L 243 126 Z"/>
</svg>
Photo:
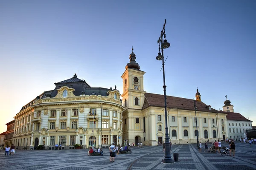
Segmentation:
<svg viewBox="0 0 256 170">
<path fill-rule="evenodd" d="M 117 89 L 132 45 L 144 90 L 163 94 L 157 40 L 166 19 L 166 94 L 217 110 L 225 96 L 256 126 L 256 1 L 1 0 L 0 133 L 23 105 L 76 73 Z"/>
</svg>

